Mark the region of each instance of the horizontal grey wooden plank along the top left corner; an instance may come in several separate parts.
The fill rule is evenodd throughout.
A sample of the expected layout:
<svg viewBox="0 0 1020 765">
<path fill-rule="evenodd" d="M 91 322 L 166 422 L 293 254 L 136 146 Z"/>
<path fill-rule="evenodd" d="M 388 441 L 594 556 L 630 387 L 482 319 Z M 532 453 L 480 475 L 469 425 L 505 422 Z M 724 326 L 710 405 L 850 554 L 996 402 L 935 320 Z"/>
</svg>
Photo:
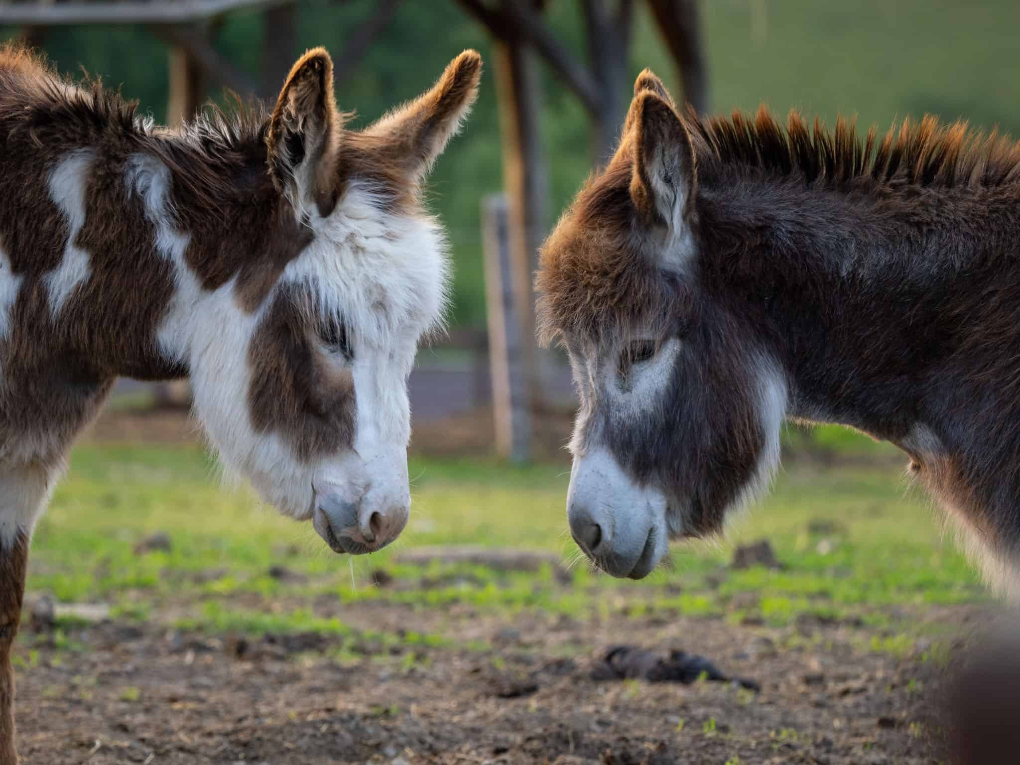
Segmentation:
<svg viewBox="0 0 1020 765">
<path fill-rule="evenodd" d="M 295 0 L 175 0 L 155 2 L 34 2 L 0 4 L 0 24 L 188 23 L 233 10 L 264 9 Z"/>
</svg>

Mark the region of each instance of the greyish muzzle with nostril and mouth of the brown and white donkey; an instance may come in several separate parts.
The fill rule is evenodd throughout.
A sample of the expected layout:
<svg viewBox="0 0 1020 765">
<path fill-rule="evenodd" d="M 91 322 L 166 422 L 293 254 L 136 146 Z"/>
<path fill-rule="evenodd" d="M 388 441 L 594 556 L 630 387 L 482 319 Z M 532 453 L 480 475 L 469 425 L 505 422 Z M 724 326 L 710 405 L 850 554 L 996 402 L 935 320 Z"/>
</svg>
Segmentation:
<svg viewBox="0 0 1020 765">
<path fill-rule="evenodd" d="M 373 553 L 404 530 L 409 502 L 377 505 L 367 499 L 347 502 L 329 496 L 319 498 L 312 525 L 334 552 Z"/>
</svg>

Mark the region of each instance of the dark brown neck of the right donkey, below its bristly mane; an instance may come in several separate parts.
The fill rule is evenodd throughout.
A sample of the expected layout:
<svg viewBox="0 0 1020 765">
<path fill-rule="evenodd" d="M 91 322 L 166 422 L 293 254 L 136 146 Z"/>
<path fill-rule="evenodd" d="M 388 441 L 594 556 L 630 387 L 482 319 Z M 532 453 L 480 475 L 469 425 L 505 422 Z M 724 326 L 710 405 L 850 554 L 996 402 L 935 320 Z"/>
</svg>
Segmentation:
<svg viewBox="0 0 1020 765">
<path fill-rule="evenodd" d="M 730 178 L 702 193 L 701 277 L 784 369 L 792 417 L 903 444 L 939 430 L 981 302 L 1020 275 L 1018 191 Z"/>
</svg>

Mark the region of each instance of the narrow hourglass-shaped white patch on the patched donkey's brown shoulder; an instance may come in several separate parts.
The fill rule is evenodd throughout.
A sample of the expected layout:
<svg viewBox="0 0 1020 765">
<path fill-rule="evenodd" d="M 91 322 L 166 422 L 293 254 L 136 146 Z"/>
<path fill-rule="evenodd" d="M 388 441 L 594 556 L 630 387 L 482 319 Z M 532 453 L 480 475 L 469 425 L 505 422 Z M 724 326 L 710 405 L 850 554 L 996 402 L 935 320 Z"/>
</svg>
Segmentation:
<svg viewBox="0 0 1020 765">
<path fill-rule="evenodd" d="M 57 163 L 47 181 L 50 198 L 64 214 L 68 230 L 60 265 L 43 277 L 54 319 L 60 315 L 70 294 L 89 278 L 92 270 L 89 253 L 75 241 L 85 225 L 85 192 L 95 158 L 96 154 L 91 149 L 72 151 Z"/>
</svg>

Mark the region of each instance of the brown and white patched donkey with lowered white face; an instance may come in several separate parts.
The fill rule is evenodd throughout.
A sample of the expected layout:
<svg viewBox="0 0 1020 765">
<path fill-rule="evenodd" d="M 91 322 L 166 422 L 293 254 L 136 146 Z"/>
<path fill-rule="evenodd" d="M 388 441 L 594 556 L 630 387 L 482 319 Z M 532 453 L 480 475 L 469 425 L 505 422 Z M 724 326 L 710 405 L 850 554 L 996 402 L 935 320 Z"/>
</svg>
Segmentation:
<svg viewBox="0 0 1020 765">
<path fill-rule="evenodd" d="M 0 49 L 0 765 L 29 540 L 117 376 L 190 377 L 227 469 L 338 553 L 403 529 L 407 376 L 449 277 L 420 191 L 480 70 L 465 51 L 354 132 L 316 49 L 271 111 L 170 131 Z"/>
</svg>

